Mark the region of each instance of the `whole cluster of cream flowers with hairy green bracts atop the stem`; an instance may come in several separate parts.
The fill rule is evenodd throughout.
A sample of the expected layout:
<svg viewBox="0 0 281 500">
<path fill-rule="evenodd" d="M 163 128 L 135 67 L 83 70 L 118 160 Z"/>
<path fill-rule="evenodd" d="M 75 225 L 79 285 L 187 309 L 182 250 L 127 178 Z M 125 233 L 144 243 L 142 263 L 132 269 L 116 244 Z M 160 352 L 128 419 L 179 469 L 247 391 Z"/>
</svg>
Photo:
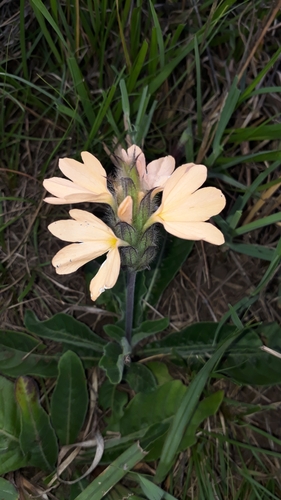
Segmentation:
<svg viewBox="0 0 281 500">
<path fill-rule="evenodd" d="M 71 243 L 53 258 L 58 274 L 69 274 L 87 262 L 107 254 L 90 283 L 92 300 L 112 288 L 120 267 L 141 271 L 156 252 L 155 224 L 183 239 L 204 240 L 214 245 L 224 237 L 206 222 L 225 206 L 219 189 L 199 189 L 207 178 L 204 165 L 187 163 L 175 170 L 175 160 L 166 156 L 146 165 L 142 150 L 131 146 L 118 152 L 118 168 L 108 186 L 106 171 L 95 156 L 81 153 L 83 163 L 70 158 L 59 160 L 67 179 L 53 177 L 44 181 L 52 197 L 47 203 L 105 203 L 108 225 L 85 210 L 70 210 L 71 219 L 49 225 L 50 232 Z M 160 206 L 157 204 L 162 191 Z"/>
</svg>

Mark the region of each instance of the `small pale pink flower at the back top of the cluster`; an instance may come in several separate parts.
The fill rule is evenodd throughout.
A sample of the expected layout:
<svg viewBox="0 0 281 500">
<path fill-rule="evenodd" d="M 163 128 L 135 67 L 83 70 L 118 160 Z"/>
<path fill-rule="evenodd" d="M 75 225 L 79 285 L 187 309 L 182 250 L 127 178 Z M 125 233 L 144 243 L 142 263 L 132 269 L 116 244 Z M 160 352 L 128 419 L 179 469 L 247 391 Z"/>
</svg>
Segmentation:
<svg viewBox="0 0 281 500">
<path fill-rule="evenodd" d="M 121 158 L 127 165 L 136 165 L 142 189 L 150 191 L 158 188 L 159 192 L 165 186 L 167 180 L 175 170 L 175 159 L 172 156 L 158 158 L 146 165 L 145 156 L 142 150 L 135 144 L 127 151 L 121 150 Z"/>
</svg>

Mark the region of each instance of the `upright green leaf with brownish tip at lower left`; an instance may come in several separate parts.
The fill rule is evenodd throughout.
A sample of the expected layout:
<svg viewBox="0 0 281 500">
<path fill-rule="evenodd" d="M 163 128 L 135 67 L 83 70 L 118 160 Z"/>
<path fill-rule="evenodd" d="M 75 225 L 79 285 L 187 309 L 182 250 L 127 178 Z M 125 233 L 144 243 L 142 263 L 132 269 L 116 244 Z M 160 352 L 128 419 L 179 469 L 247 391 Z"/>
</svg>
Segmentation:
<svg viewBox="0 0 281 500">
<path fill-rule="evenodd" d="M 29 465 L 47 471 L 54 469 L 58 455 L 56 435 L 31 378 L 17 379 L 16 400 L 21 415 L 20 446 L 30 455 Z"/>
</svg>

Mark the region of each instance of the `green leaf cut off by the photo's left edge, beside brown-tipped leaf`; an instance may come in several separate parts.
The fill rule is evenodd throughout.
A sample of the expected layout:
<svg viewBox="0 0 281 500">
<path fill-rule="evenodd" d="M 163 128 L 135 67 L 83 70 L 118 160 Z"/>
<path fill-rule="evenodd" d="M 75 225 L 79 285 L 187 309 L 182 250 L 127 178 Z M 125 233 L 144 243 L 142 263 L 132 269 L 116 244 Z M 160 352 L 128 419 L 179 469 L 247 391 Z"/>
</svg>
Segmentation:
<svg viewBox="0 0 281 500">
<path fill-rule="evenodd" d="M 7 474 L 27 465 L 27 457 L 20 448 L 19 434 L 20 415 L 15 400 L 15 387 L 12 382 L 0 376 L 0 474 Z"/>
</svg>

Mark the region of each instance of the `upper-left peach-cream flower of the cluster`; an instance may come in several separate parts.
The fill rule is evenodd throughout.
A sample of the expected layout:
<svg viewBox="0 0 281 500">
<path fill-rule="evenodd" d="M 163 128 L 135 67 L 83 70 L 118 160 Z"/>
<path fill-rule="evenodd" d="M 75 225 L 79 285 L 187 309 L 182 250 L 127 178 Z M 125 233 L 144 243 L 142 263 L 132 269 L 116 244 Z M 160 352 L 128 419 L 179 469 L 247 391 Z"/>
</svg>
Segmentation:
<svg viewBox="0 0 281 500">
<path fill-rule="evenodd" d="M 43 185 L 54 197 L 44 201 L 53 205 L 65 203 L 96 202 L 114 207 L 114 198 L 107 188 L 106 171 L 91 153 L 81 153 L 83 163 L 72 158 L 60 158 L 59 168 L 68 177 L 45 179 Z"/>
</svg>

